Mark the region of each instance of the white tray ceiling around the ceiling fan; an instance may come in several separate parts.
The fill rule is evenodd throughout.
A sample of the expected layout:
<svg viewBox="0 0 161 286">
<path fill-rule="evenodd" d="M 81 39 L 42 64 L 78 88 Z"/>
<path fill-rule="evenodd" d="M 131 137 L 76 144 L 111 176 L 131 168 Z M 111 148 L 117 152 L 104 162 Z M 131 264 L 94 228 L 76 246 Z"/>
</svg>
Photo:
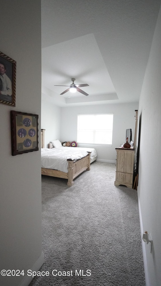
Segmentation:
<svg viewBox="0 0 161 286">
<path fill-rule="evenodd" d="M 41 2 L 42 98 L 58 106 L 138 102 L 161 0 Z M 71 78 L 89 84 L 81 88 L 89 96 L 60 95 Z"/>
</svg>

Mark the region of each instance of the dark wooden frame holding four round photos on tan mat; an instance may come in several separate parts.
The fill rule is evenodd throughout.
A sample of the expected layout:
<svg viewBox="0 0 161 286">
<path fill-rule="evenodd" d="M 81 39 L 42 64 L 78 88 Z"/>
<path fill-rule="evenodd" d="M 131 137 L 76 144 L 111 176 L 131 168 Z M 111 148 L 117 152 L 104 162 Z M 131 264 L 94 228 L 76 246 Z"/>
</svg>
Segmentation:
<svg viewBox="0 0 161 286">
<path fill-rule="evenodd" d="M 11 110 L 12 156 L 38 151 L 38 115 Z"/>
</svg>

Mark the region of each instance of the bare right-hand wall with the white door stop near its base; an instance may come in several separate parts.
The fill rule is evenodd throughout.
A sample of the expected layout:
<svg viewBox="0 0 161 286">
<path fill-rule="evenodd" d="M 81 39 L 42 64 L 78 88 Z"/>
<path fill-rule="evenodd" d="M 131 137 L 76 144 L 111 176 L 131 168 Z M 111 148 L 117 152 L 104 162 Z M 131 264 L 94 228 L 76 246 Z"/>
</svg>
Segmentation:
<svg viewBox="0 0 161 286">
<path fill-rule="evenodd" d="M 161 281 L 161 9 L 158 15 L 138 110 L 138 201 L 141 231 L 148 231 L 153 241 L 142 241 L 146 286 Z"/>
</svg>

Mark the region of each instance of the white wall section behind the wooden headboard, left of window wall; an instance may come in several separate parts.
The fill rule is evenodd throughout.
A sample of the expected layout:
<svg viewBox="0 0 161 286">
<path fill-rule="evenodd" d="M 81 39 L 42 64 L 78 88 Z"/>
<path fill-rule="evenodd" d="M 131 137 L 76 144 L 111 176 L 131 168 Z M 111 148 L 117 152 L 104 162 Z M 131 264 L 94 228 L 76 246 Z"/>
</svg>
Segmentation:
<svg viewBox="0 0 161 286">
<path fill-rule="evenodd" d="M 48 143 L 51 140 L 60 138 L 60 110 L 60 107 L 54 105 L 51 101 L 51 98 L 48 98 L 48 95 L 42 94 L 41 129 L 45 129 L 45 148 L 48 148 Z"/>
</svg>

